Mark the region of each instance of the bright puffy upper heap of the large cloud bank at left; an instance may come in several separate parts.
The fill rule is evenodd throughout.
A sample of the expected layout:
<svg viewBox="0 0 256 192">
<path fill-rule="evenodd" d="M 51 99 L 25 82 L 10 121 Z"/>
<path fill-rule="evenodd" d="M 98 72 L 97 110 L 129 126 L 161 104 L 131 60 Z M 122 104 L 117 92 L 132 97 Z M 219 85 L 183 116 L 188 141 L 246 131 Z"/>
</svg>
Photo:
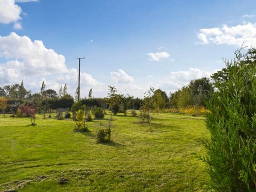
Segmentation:
<svg viewBox="0 0 256 192">
<path fill-rule="evenodd" d="M 24 66 L 19 70 L 24 75 L 67 72 L 63 55 L 46 48 L 40 40 L 32 41 L 28 36 L 18 36 L 14 32 L 0 36 L 0 57 L 22 60 Z"/>
</svg>

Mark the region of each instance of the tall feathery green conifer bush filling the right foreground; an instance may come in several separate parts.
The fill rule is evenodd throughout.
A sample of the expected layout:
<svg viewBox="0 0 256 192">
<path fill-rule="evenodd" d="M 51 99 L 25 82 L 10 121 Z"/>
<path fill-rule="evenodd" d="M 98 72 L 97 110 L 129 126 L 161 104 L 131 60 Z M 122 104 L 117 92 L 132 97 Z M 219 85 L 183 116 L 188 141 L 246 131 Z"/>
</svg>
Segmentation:
<svg viewBox="0 0 256 192">
<path fill-rule="evenodd" d="M 214 191 L 256 191 L 256 50 L 212 76 L 215 92 L 206 112 L 210 140 L 204 141 Z"/>
</svg>

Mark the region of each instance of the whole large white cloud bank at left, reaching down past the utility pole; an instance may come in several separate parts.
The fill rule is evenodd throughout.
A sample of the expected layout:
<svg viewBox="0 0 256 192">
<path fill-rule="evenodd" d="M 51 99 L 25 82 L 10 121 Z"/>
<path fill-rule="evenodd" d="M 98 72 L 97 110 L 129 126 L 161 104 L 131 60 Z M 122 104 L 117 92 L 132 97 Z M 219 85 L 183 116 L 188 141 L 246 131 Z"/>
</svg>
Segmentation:
<svg viewBox="0 0 256 192">
<path fill-rule="evenodd" d="M 0 86 L 24 80 L 28 89 L 38 92 L 43 81 L 47 82 L 47 88 L 54 90 L 67 83 L 68 92 L 73 95 L 78 86 L 78 71 L 75 68 L 68 69 L 65 57 L 45 48 L 40 40 L 32 41 L 16 33 L 0 36 L 0 58 L 7 60 L 0 64 Z M 94 92 L 107 90 L 103 86 L 92 75 L 80 73 L 82 96 L 90 88 L 94 88 Z"/>
</svg>

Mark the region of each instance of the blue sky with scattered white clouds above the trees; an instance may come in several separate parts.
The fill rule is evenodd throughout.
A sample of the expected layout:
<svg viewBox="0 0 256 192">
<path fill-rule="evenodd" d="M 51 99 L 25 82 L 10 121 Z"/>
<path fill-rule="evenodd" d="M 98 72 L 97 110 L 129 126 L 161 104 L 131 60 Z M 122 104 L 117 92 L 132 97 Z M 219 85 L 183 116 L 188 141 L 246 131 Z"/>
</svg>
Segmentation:
<svg viewBox="0 0 256 192">
<path fill-rule="evenodd" d="M 0 87 L 42 82 L 105 97 L 143 97 L 210 77 L 242 44 L 256 46 L 255 0 L 0 0 Z"/>
</svg>

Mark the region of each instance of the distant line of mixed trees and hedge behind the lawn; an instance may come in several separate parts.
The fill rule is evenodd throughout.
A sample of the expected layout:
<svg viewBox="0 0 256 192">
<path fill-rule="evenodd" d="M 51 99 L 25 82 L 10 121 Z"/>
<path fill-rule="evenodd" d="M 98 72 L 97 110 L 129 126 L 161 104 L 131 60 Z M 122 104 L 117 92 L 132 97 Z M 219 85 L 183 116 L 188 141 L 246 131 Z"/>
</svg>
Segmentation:
<svg viewBox="0 0 256 192">
<path fill-rule="evenodd" d="M 0 87 L 0 97 L 8 98 L 7 113 L 15 113 L 22 105 L 33 106 L 38 113 L 42 110 L 54 110 L 57 108 L 70 109 L 75 103 L 73 98 L 66 92 L 66 84 L 60 87 L 58 93 L 52 89 L 45 89 L 45 83 L 42 83 L 41 91 L 34 93 L 21 84 L 12 84 Z M 115 87 L 109 86 L 108 96 L 105 98 L 93 98 L 92 89 L 88 98 L 82 98 L 80 104 L 90 108 L 101 107 L 110 109 L 114 113 L 125 112 L 128 109 L 160 111 L 168 108 L 186 108 L 188 106 L 206 106 L 206 101 L 210 98 L 214 87 L 209 78 L 192 80 L 187 86 L 182 87 L 174 93 L 167 96 L 166 92 L 150 88 L 145 92 L 144 98 L 134 98 L 130 95 L 118 94 Z"/>
</svg>

